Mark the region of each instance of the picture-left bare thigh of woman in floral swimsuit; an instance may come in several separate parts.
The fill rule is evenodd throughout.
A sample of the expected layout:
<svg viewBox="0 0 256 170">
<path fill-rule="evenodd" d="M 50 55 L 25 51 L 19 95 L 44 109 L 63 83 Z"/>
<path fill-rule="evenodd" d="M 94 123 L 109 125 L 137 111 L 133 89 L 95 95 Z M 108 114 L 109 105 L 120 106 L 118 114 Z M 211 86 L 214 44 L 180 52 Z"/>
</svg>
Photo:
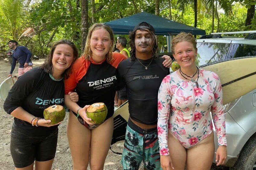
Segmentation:
<svg viewBox="0 0 256 170">
<path fill-rule="evenodd" d="M 186 149 L 171 131 L 168 131 L 168 148 L 174 169 L 184 170 L 187 158 Z"/>
</svg>

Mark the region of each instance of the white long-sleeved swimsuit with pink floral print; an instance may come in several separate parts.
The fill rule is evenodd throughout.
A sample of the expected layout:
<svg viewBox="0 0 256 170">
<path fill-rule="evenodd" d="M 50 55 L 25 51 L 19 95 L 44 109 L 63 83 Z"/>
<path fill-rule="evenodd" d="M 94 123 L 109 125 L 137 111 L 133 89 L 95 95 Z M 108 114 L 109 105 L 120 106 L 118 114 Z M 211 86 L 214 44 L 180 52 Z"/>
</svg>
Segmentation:
<svg viewBox="0 0 256 170">
<path fill-rule="evenodd" d="M 196 83 L 187 82 L 178 72 L 166 76 L 158 91 L 158 138 L 161 155 L 169 155 L 168 129 L 185 148 L 191 148 L 213 130 L 219 145 L 227 145 L 222 87 L 216 73 L 199 69 Z"/>
</svg>

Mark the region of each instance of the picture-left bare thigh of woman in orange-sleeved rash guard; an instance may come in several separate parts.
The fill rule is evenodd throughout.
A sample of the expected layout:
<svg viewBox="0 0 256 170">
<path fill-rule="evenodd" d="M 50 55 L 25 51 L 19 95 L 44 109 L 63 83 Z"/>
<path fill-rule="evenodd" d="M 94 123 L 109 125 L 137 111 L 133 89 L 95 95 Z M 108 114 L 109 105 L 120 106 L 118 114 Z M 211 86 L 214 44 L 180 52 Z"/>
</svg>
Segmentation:
<svg viewBox="0 0 256 170">
<path fill-rule="evenodd" d="M 73 169 L 86 170 L 89 163 L 91 130 L 82 125 L 76 116 L 70 112 L 67 136 L 72 155 Z"/>
</svg>

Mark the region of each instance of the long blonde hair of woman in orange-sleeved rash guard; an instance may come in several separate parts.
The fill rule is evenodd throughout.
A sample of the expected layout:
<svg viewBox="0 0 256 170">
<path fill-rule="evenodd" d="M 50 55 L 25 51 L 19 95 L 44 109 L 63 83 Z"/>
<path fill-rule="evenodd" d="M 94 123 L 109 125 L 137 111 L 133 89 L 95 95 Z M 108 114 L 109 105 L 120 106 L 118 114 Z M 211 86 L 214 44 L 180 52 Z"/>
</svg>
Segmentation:
<svg viewBox="0 0 256 170">
<path fill-rule="evenodd" d="M 101 28 L 105 29 L 110 34 L 110 39 L 112 41 L 112 44 L 109 48 L 109 51 L 106 54 L 107 62 L 110 62 L 113 59 L 112 51 L 113 51 L 113 48 L 114 48 L 114 41 L 115 41 L 114 33 L 113 33 L 112 29 L 110 28 L 110 26 L 108 26 L 107 24 L 95 23 L 89 29 L 87 39 L 86 39 L 86 44 L 85 44 L 85 51 L 83 52 L 83 54 L 81 54 L 81 56 L 85 57 L 85 60 L 90 60 L 90 58 L 92 56 L 91 41 L 90 41 L 91 40 L 91 35 L 95 30 L 101 29 Z"/>
</svg>

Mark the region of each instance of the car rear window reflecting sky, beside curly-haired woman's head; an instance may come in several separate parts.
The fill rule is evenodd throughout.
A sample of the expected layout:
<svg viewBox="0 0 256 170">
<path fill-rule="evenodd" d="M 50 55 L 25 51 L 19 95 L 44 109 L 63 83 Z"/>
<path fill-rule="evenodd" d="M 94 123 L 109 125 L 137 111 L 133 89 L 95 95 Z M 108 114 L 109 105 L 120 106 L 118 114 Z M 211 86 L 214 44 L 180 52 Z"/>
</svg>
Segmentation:
<svg viewBox="0 0 256 170">
<path fill-rule="evenodd" d="M 197 42 L 197 66 L 227 59 L 229 47 L 228 43 Z"/>
</svg>

